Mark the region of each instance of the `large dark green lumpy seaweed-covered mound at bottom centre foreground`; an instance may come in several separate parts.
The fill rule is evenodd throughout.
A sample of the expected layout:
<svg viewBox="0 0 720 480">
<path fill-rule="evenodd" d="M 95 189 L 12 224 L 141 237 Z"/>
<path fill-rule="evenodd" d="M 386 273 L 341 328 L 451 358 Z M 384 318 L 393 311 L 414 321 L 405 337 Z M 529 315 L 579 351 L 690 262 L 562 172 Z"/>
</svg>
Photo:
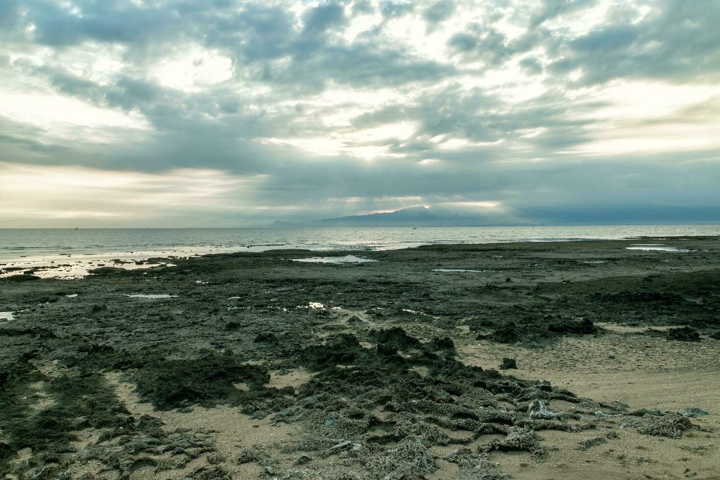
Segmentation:
<svg viewBox="0 0 720 480">
<path fill-rule="evenodd" d="M 375 342 L 373 347 L 365 348 L 355 335 L 341 334 L 298 350 L 293 364 L 315 374 L 299 387 L 292 405 L 264 407 L 274 412 L 271 425 L 301 425 L 299 435 L 282 452 L 302 453 L 305 468 L 312 470 L 316 460 L 337 456 L 334 465 L 360 467 L 363 478 L 420 479 L 438 468 L 433 446 L 459 445 L 445 459 L 460 466 L 462 478 L 500 479 L 505 475 L 487 460 L 491 451 L 525 450 L 542 461 L 548 449 L 541 445 L 537 430 L 595 426 L 575 412 L 544 408 L 544 415 L 533 415 L 534 405 L 544 407 L 553 399 L 577 404 L 578 412 L 589 415 L 600 404 L 548 382 L 467 366 L 454 358 L 454 345 L 447 340 L 423 343 L 401 328 L 366 335 Z M 401 346 L 402 355 L 397 352 Z M 612 404 L 602 407 L 617 411 Z M 444 429 L 466 431 L 469 437 L 454 438 Z M 503 435 L 503 440 L 480 443 L 474 450 L 462 446 L 483 435 Z M 243 462 L 255 461 L 265 468 L 266 460 L 263 455 L 243 457 Z M 327 466 L 317 468 L 326 471 Z"/>
</svg>

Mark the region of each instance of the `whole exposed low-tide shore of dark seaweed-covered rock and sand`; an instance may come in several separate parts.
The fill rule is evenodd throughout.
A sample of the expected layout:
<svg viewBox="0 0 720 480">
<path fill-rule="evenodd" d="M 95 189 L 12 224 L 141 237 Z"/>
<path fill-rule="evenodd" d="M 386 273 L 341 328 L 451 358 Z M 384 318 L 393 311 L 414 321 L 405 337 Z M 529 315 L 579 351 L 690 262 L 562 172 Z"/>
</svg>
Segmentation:
<svg viewBox="0 0 720 480">
<path fill-rule="evenodd" d="M 0 473 L 720 478 L 719 253 L 642 238 L 6 276 Z"/>
</svg>

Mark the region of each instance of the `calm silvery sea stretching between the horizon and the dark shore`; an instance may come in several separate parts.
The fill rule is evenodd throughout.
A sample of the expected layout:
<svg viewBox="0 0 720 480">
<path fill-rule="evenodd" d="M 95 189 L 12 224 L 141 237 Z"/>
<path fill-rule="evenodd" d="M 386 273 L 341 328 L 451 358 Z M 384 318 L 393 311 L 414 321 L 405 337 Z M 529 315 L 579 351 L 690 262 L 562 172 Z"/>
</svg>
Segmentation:
<svg viewBox="0 0 720 480">
<path fill-rule="evenodd" d="M 0 228 L 0 268 L 31 268 L 63 263 L 73 266 L 62 268 L 62 273 L 71 277 L 76 276 L 88 263 L 95 267 L 114 259 L 134 263 L 152 257 L 188 257 L 287 248 L 372 251 L 442 243 L 564 242 L 696 235 L 720 235 L 720 225 Z M 52 274 L 48 273 L 48 276 Z"/>
</svg>

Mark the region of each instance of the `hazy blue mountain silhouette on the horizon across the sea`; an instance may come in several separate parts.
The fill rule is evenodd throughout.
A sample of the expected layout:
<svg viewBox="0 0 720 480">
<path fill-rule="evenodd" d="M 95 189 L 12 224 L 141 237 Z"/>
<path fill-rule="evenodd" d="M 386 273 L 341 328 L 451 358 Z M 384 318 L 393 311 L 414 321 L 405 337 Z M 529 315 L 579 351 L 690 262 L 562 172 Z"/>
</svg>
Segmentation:
<svg viewBox="0 0 720 480">
<path fill-rule="evenodd" d="M 436 207 L 409 207 L 395 212 L 351 215 L 310 222 L 276 222 L 268 227 L 477 227 L 487 225 L 480 217 L 462 217 Z"/>
</svg>

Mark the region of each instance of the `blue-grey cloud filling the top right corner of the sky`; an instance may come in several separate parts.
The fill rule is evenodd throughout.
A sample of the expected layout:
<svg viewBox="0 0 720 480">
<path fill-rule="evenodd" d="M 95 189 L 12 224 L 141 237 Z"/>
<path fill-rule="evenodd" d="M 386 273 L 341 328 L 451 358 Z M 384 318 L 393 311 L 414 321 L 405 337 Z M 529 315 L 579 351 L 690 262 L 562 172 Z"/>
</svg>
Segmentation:
<svg viewBox="0 0 720 480">
<path fill-rule="evenodd" d="M 613 6 L 608 22 L 565 37 L 559 58 L 549 64 L 556 75 L 582 71 L 575 86 L 617 78 L 662 79 L 671 83 L 712 82 L 720 77 L 720 6 L 715 1 L 654 2 Z"/>
</svg>

